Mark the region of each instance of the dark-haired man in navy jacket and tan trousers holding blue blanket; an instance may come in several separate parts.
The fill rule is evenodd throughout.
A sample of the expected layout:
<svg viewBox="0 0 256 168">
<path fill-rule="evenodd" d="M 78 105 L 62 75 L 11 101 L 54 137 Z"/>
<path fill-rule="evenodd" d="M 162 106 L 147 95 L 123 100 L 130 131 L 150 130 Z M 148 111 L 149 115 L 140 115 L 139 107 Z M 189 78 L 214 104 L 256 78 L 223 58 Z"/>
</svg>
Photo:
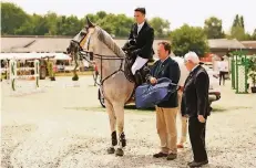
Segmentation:
<svg viewBox="0 0 256 168">
<path fill-rule="evenodd" d="M 157 78 L 167 77 L 172 80 L 172 83 L 177 84 L 181 71 L 177 62 L 170 57 L 171 44 L 160 42 L 157 53 L 160 60 L 152 66 L 151 73 L 146 75 L 146 80 L 151 84 L 155 84 Z M 156 128 L 161 140 L 161 151 L 153 155 L 155 158 L 167 157 L 167 160 L 173 160 L 177 157 L 177 92 L 171 94 L 167 101 L 156 105 Z"/>
</svg>

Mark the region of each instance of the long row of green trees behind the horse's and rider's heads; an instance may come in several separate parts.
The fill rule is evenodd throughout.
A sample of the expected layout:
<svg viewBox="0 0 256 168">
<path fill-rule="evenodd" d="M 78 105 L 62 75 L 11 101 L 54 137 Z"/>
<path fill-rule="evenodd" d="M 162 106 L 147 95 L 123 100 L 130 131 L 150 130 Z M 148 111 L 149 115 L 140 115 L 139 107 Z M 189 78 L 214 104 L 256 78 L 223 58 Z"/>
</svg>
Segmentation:
<svg viewBox="0 0 256 168">
<path fill-rule="evenodd" d="M 115 36 L 127 36 L 133 24 L 133 18 L 125 14 L 106 13 L 99 11 L 95 14 L 86 14 L 83 19 L 75 15 L 58 15 L 49 11 L 45 15 L 27 14 L 13 3 L 1 3 L 2 7 L 2 34 L 21 35 L 74 35 L 86 23 L 85 17 Z M 155 29 L 155 35 L 164 38 L 168 35 L 170 23 L 161 18 L 151 20 Z"/>
</svg>

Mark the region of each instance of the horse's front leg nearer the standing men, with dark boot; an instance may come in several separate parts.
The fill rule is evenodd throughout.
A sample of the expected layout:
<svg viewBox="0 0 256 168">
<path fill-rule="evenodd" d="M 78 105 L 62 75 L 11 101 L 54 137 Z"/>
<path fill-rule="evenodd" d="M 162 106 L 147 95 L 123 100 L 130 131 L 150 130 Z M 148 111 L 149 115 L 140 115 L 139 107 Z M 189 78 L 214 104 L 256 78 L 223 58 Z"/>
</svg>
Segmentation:
<svg viewBox="0 0 256 168">
<path fill-rule="evenodd" d="M 113 104 L 116 123 L 117 123 L 117 133 L 119 133 L 119 148 L 115 151 L 116 156 L 123 156 L 123 147 L 126 146 L 126 139 L 124 135 L 124 104 L 115 103 Z"/>
</svg>

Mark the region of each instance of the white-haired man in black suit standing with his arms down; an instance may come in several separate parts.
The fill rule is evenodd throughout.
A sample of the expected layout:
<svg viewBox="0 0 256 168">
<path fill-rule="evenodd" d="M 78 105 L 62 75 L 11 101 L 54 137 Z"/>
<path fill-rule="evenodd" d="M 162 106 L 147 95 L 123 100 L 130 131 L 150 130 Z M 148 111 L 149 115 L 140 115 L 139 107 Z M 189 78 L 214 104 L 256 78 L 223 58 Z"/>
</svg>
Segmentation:
<svg viewBox="0 0 256 168">
<path fill-rule="evenodd" d="M 186 69 L 191 72 L 186 78 L 182 98 L 182 114 L 190 117 L 188 133 L 194 154 L 194 160 L 188 162 L 188 166 L 201 167 L 208 164 L 205 149 L 205 126 L 207 116 L 209 116 L 209 78 L 205 69 L 199 65 L 196 53 L 188 52 L 184 61 Z"/>
</svg>

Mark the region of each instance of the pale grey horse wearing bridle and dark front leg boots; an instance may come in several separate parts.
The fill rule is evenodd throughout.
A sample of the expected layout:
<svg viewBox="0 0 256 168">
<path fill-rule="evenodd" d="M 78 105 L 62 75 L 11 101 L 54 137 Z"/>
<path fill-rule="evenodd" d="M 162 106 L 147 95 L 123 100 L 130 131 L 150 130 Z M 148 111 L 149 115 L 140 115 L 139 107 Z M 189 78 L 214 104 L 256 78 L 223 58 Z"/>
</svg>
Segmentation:
<svg viewBox="0 0 256 168">
<path fill-rule="evenodd" d="M 89 54 L 93 57 L 101 76 L 100 90 L 104 96 L 110 119 L 111 146 L 107 147 L 107 153 L 123 156 L 123 148 L 126 146 L 124 105 L 131 99 L 135 83 L 125 74 L 129 71 L 125 67 L 126 53 L 106 31 L 93 24 L 89 18 L 86 20 L 86 25 L 71 40 L 68 53 Z M 117 146 L 116 149 L 115 146 Z"/>
</svg>

